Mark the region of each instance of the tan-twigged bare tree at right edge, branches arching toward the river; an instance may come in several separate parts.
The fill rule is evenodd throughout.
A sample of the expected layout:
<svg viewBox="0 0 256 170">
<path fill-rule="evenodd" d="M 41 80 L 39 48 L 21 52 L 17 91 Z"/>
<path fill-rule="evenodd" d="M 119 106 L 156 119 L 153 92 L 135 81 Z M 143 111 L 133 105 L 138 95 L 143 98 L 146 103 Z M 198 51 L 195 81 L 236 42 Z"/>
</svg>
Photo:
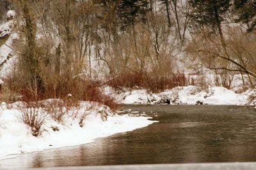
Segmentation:
<svg viewBox="0 0 256 170">
<path fill-rule="evenodd" d="M 224 35 L 223 38 L 218 38 L 210 32 L 200 32 L 191 41 L 187 52 L 193 60 L 208 69 L 247 74 L 250 85 L 254 87 L 250 76 L 256 78 L 255 50 L 252 47 L 255 45 L 252 41 L 255 33 L 246 34 L 240 27 L 229 27 L 225 31 L 225 37 L 223 39 Z"/>
</svg>

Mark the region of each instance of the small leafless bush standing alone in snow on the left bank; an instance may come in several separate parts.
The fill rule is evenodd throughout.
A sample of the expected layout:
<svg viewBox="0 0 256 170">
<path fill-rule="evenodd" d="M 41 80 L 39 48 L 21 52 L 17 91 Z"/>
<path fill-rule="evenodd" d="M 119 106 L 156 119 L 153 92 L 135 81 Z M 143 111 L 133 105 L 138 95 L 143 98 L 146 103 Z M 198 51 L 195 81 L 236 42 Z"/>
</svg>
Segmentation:
<svg viewBox="0 0 256 170">
<path fill-rule="evenodd" d="M 44 131 L 42 126 L 45 124 L 47 117 L 45 111 L 36 107 L 36 103 L 30 103 L 28 107 L 20 107 L 19 111 L 21 113 L 18 117 L 20 122 L 29 126 L 33 136 L 40 136 Z"/>
</svg>

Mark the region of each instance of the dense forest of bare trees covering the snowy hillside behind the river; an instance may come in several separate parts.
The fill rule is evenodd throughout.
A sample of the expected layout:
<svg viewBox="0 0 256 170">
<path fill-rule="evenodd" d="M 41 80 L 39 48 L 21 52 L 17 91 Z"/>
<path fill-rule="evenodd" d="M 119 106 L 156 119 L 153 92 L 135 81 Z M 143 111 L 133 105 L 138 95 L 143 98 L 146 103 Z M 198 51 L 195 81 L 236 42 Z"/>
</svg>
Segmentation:
<svg viewBox="0 0 256 170">
<path fill-rule="evenodd" d="M 105 84 L 159 91 L 202 68 L 255 85 L 255 0 L 0 2 L 2 20 L 17 12 L 20 62 L 7 82 L 23 96 L 88 99 L 95 90 L 84 87 Z"/>
</svg>

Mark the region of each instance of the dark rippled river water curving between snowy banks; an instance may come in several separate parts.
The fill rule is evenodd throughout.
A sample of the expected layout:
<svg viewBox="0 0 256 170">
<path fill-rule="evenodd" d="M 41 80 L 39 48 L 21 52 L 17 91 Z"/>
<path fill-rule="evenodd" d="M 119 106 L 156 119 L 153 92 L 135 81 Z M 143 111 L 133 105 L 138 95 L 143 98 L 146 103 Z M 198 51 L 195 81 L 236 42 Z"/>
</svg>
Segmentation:
<svg viewBox="0 0 256 170">
<path fill-rule="evenodd" d="M 126 105 L 122 109 L 145 112 L 159 123 L 86 145 L 0 160 L 0 169 L 256 161 L 256 110 L 250 106 Z"/>
</svg>

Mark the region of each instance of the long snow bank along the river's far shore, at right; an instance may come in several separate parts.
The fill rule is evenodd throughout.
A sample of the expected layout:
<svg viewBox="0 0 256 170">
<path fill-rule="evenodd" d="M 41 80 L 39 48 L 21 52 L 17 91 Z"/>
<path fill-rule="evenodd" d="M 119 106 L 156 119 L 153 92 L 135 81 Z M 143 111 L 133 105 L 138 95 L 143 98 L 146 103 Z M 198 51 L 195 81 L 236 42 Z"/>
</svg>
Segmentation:
<svg viewBox="0 0 256 170">
<path fill-rule="evenodd" d="M 133 90 L 112 95 L 116 102 L 122 104 L 248 104 L 249 92 L 236 94 L 224 87 L 175 87 L 161 93 L 152 94 L 147 90 Z"/>
</svg>

